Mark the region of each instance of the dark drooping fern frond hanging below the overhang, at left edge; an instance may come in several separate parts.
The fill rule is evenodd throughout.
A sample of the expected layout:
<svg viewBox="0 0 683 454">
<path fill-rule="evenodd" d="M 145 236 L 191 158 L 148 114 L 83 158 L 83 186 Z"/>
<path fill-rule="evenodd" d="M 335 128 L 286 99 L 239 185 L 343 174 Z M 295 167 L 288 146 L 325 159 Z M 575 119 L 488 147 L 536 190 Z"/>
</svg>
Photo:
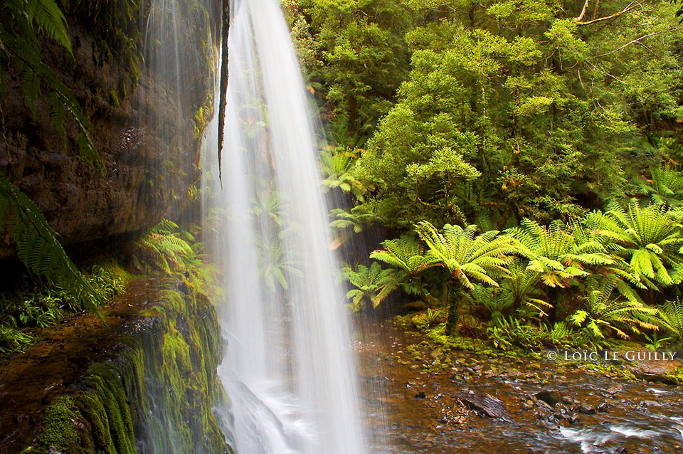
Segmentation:
<svg viewBox="0 0 683 454">
<path fill-rule="evenodd" d="M 38 278 L 73 288 L 83 306 L 99 313 L 104 302 L 68 258 L 38 206 L 0 176 L 0 231 L 9 233 L 16 255 Z"/>
</svg>

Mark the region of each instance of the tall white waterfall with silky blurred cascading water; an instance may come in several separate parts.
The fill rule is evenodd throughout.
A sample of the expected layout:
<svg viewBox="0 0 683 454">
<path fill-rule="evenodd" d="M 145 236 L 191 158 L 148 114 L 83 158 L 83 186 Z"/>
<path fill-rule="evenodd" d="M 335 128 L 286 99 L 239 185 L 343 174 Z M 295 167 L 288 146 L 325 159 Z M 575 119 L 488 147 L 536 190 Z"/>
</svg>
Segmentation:
<svg viewBox="0 0 683 454">
<path fill-rule="evenodd" d="M 225 271 L 218 375 L 230 403 L 217 411 L 239 454 L 363 454 L 316 131 L 280 4 L 233 0 L 228 49 L 212 202 L 227 221 L 210 243 Z"/>
</svg>

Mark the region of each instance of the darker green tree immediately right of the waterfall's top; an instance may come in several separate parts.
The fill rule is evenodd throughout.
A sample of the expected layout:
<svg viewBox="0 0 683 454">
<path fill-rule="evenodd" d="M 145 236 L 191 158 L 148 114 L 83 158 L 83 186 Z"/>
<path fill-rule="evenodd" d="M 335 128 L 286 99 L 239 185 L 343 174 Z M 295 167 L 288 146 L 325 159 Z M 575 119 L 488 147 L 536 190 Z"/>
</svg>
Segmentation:
<svg viewBox="0 0 683 454">
<path fill-rule="evenodd" d="M 312 78 L 322 84 L 330 120 L 360 145 L 408 72 L 403 41 L 413 25 L 405 2 L 396 0 L 303 0 L 312 36 L 309 48 L 322 65 Z"/>
</svg>

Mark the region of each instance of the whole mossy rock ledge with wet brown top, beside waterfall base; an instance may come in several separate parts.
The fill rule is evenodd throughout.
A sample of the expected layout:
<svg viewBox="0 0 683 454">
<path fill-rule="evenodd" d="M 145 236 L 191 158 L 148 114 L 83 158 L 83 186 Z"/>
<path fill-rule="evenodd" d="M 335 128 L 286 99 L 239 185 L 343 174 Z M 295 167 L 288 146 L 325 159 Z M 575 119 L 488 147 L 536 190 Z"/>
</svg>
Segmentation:
<svg viewBox="0 0 683 454">
<path fill-rule="evenodd" d="M 0 366 L 0 453 L 231 453 L 206 296 L 137 280 L 105 322 L 72 317 Z"/>
</svg>

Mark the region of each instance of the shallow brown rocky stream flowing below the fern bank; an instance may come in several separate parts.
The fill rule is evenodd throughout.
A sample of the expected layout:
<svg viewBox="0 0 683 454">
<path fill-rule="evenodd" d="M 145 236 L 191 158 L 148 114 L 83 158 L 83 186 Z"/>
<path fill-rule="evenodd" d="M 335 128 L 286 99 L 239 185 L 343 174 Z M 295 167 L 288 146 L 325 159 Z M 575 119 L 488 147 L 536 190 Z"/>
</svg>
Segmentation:
<svg viewBox="0 0 683 454">
<path fill-rule="evenodd" d="M 356 348 L 372 453 L 683 452 L 681 387 L 440 352 L 389 323 L 363 331 Z M 512 422 L 467 409 L 457 396 L 469 391 L 499 398 Z M 561 401 L 530 398 L 539 391 L 558 391 Z"/>
</svg>

